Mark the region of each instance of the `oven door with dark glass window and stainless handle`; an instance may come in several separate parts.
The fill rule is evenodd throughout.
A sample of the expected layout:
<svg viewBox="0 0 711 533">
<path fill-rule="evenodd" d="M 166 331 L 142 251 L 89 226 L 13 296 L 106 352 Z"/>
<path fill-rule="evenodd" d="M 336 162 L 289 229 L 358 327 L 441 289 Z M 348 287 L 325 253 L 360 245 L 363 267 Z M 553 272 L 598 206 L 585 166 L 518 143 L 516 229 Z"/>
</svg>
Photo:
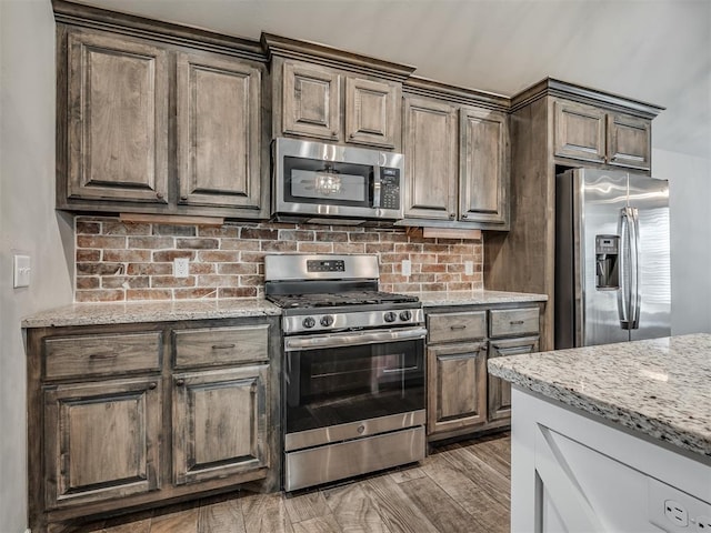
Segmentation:
<svg viewBox="0 0 711 533">
<path fill-rule="evenodd" d="M 424 328 L 287 338 L 287 452 L 424 422 Z"/>
</svg>

